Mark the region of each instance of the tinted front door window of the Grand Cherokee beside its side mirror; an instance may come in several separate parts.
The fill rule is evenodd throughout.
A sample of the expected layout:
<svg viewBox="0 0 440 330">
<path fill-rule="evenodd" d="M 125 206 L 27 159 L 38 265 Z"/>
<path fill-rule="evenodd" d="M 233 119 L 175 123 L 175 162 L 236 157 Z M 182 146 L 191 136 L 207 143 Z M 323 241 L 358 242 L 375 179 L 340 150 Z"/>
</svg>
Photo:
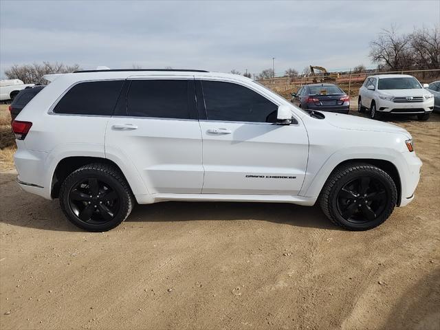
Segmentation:
<svg viewBox="0 0 440 330">
<path fill-rule="evenodd" d="M 233 83 L 202 81 L 208 120 L 275 122 L 276 104 L 260 94 Z"/>
</svg>

